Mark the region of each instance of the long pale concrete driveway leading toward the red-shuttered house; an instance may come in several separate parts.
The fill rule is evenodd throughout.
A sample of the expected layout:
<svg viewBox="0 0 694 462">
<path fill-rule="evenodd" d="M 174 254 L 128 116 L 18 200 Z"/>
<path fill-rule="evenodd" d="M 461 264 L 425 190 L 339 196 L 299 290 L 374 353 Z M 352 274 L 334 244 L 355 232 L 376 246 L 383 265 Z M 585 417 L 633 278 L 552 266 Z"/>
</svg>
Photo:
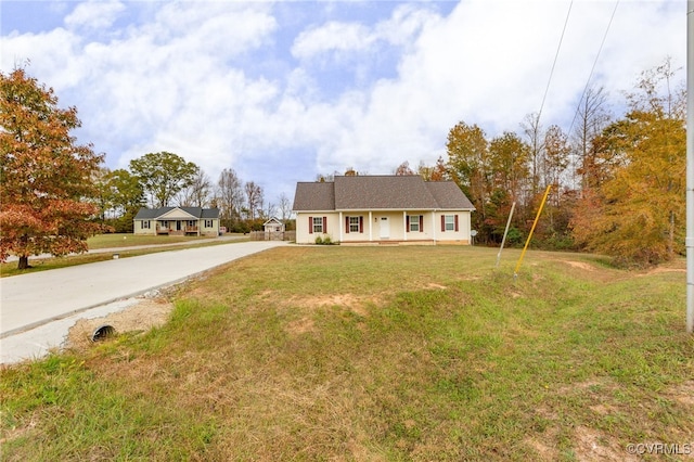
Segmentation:
<svg viewBox="0 0 694 462">
<path fill-rule="evenodd" d="M 72 319 L 97 307 L 126 307 L 124 299 L 281 245 L 287 244 L 243 242 L 177 249 L 2 278 L 0 363 L 37 357 L 49 347 L 57 346 L 54 331 L 61 331 L 61 338 L 67 334 L 67 330 L 62 332 L 64 326 L 56 323 L 59 320 Z M 44 342 L 48 336 L 51 339 Z"/>
</svg>

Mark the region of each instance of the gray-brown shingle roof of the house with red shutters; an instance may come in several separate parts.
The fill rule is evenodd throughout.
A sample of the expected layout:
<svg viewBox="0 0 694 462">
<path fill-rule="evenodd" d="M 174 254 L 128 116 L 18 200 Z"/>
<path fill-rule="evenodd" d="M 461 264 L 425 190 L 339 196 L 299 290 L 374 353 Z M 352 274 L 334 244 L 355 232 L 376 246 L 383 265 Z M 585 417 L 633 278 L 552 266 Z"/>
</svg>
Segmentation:
<svg viewBox="0 0 694 462">
<path fill-rule="evenodd" d="M 452 181 L 411 176 L 335 177 L 334 182 L 297 183 L 295 211 L 474 209 Z"/>
</svg>

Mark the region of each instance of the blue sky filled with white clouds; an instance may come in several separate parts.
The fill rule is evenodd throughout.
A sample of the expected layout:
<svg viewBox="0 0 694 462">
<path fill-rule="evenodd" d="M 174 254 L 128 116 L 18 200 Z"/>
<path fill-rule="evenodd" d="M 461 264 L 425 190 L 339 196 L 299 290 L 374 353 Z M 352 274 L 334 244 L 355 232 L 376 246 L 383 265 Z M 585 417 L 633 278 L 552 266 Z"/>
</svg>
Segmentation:
<svg viewBox="0 0 694 462">
<path fill-rule="evenodd" d="M 567 130 L 615 4 L 2 1 L 0 70 L 30 61 L 111 168 L 169 151 L 277 203 L 318 174 L 433 164 L 460 120 L 519 133 L 545 90 L 541 124 Z M 621 0 L 592 82 L 619 105 L 685 48 L 685 2 Z"/>
</svg>

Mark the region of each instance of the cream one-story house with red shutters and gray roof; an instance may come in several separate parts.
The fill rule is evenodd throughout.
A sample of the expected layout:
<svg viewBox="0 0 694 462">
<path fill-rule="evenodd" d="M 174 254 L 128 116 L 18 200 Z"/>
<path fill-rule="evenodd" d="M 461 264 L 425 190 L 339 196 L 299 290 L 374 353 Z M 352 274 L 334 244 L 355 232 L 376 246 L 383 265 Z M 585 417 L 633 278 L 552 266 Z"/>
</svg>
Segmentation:
<svg viewBox="0 0 694 462">
<path fill-rule="evenodd" d="M 299 182 L 293 209 L 297 244 L 470 244 L 475 207 L 454 182 L 411 175 Z"/>
</svg>

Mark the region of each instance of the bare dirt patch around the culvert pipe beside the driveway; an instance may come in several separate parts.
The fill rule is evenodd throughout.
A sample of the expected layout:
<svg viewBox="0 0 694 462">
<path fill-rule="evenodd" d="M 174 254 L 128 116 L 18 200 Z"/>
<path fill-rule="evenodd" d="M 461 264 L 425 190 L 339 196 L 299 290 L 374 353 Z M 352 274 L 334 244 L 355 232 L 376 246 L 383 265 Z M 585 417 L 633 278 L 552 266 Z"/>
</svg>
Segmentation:
<svg viewBox="0 0 694 462">
<path fill-rule="evenodd" d="M 65 346 L 76 349 L 89 348 L 93 345 L 94 331 L 102 325 L 113 326 L 117 334 L 149 331 L 152 328 L 164 325 L 174 305 L 164 298 L 143 298 L 123 311 L 113 312 L 102 318 L 80 319 L 68 331 Z"/>
</svg>

